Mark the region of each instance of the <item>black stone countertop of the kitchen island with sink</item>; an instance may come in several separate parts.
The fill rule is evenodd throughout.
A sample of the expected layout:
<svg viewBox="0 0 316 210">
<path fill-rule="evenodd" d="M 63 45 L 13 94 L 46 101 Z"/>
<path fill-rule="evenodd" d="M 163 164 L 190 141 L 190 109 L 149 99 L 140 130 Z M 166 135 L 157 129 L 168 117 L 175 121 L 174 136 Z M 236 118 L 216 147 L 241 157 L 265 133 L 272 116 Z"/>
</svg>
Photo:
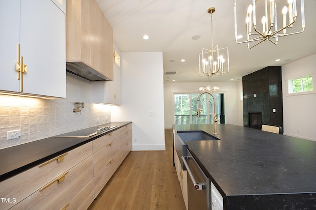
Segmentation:
<svg viewBox="0 0 316 210">
<path fill-rule="evenodd" d="M 212 125 L 174 125 L 213 133 Z M 316 209 L 316 142 L 231 124 L 217 139 L 186 141 L 223 196 L 224 210 Z"/>
</svg>

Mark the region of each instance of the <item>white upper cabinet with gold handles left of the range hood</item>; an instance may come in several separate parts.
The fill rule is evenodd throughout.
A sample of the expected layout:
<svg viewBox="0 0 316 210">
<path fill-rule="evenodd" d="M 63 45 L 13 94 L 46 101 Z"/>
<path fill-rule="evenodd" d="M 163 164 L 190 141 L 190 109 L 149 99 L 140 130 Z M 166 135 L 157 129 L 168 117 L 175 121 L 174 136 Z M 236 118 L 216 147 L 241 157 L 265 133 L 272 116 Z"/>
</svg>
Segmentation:
<svg viewBox="0 0 316 210">
<path fill-rule="evenodd" d="M 52 0 L 10 0 L 0 19 L 0 90 L 66 97 L 65 13 Z"/>
</svg>

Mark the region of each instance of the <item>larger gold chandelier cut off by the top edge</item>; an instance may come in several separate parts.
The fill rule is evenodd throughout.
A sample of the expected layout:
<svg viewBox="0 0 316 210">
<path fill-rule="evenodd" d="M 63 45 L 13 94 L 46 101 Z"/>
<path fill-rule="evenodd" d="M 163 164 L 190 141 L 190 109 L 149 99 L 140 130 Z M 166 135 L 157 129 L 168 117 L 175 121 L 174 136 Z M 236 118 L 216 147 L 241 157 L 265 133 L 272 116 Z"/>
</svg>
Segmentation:
<svg viewBox="0 0 316 210">
<path fill-rule="evenodd" d="M 292 35 L 296 33 L 301 33 L 305 29 L 305 17 L 304 17 L 304 0 L 301 0 L 301 19 L 302 19 L 302 30 L 297 32 L 286 33 L 286 29 L 292 28 L 293 24 L 297 19 L 297 10 L 296 10 L 296 0 L 287 0 L 287 5 L 285 5 L 282 10 L 279 10 L 280 16 L 282 16 L 283 24 L 280 29 L 277 28 L 277 8 L 276 1 L 277 0 L 268 0 L 270 1 L 270 8 L 268 10 L 267 0 L 260 1 L 264 2 L 264 5 L 260 5 L 256 7 L 256 1 L 252 0 L 252 4 L 250 4 L 246 10 L 246 32 L 247 39 L 245 41 L 239 41 L 239 37 L 237 35 L 237 9 L 236 2 L 234 4 L 234 13 L 235 13 L 235 39 L 238 44 L 247 43 L 248 49 L 253 48 L 254 46 L 265 43 L 266 41 L 271 41 L 275 45 L 277 44 L 278 37 Z M 278 0 L 279 1 L 279 0 Z M 285 0 L 283 0 L 285 1 Z M 258 2 L 257 2 L 258 4 Z M 263 8 L 261 11 L 258 11 L 258 8 Z M 257 11 L 256 11 L 257 9 Z M 269 14 L 268 14 L 269 11 Z M 256 15 L 262 16 L 262 31 L 257 28 L 257 19 Z M 287 17 L 288 16 L 288 17 Z M 253 30 L 252 32 L 252 26 Z M 250 46 L 250 42 L 257 42 L 253 46 Z"/>
</svg>

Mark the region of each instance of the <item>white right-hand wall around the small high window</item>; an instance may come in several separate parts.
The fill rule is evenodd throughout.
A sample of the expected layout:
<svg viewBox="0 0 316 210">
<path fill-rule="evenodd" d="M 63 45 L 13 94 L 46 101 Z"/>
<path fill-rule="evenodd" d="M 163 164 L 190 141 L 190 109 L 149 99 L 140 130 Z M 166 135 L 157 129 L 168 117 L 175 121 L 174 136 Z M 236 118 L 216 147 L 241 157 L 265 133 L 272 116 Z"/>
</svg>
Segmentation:
<svg viewBox="0 0 316 210">
<path fill-rule="evenodd" d="M 316 54 L 282 66 L 284 135 L 316 141 L 316 93 L 288 95 L 287 79 L 316 73 Z M 313 76 L 313 89 L 316 89 Z"/>
</svg>

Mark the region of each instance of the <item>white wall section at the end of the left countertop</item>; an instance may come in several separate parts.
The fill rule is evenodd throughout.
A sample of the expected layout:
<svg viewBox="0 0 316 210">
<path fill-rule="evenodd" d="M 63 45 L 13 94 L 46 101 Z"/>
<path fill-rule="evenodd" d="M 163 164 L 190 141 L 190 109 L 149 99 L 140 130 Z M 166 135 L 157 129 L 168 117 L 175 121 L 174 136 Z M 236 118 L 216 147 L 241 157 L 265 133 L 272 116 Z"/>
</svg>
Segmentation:
<svg viewBox="0 0 316 210">
<path fill-rule="evenodd" d="M 162 53 L 121 53 L 120 59 L 122 105 L 112 106 L 112 121 L 132 121 L 132 150 L 165 150 Z"/>
</svg>

